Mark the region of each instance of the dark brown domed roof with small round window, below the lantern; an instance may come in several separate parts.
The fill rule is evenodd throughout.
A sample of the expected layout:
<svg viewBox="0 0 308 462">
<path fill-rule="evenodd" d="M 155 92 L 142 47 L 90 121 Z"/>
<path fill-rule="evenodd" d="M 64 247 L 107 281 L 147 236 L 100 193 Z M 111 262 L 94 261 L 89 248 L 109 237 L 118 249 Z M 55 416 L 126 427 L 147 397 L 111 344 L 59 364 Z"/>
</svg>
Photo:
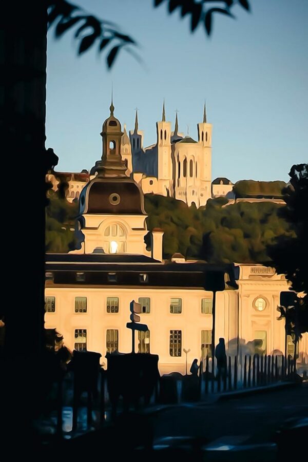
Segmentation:
<svg viewBox="0 0 308 462">
<path fill-rule="evenodd" d="M 146 215 L 143 194 L 130 178 L 93 178 L 80 196 L 81 214 Z"/>
</svg>

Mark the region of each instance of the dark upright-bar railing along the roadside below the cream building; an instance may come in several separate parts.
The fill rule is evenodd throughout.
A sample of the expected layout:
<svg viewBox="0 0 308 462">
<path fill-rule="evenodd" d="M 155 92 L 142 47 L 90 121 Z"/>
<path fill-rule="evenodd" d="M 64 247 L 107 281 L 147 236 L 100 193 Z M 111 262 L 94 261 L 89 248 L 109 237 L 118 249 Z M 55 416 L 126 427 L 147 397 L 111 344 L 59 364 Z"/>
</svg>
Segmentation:
<svg viewBox="0 0 308 462">
<path fill-rule="evenodd" d="M 158 402 L 202 401 L 210 394 L 264 387 L 295 378 L 293 360 L 283 356 L 228 356 L 225 366 L 218 367 L 216 358 L 213 361 L 207 357 L 196 375 L 164 375 L 150 402 L 153 405 Z M 71 431 L 84 432 L 91 427 L 102 426 L 106 415 L 112 418 L 106 379 L 107 372 L 101 369 L 97 379 L 94 382 L 89 380 L 87 387 L 82 389 L 73 371 L 59 375 L 53 384 L 55 406 L 51 411 L 58 435 Z M 84 396 L 80 399 L 84 393 L 87 394 L 86 401 Z M 69 424 L 65 421 L 67 415 Z"/>
</svg>

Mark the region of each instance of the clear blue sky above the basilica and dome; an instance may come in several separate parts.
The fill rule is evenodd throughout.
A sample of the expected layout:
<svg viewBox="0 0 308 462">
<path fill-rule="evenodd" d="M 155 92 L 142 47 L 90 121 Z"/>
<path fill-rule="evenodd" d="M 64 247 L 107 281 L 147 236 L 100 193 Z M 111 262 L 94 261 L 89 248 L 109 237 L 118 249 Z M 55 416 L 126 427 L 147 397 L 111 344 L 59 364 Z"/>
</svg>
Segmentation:
<svg viewBox="0 0 308 462">
<path fill-rule="evenodd" d="M 179 12 L 153 0 L 74 0 L 116 23 L 140 44 L 139 64 L 122 52 L 108 71 L 97 49 L 77 56 L 67 32 L 48 35 L 47 147 L 58 170 L 89 169 L 101 157 L 100 132 L 109 115 L 133 128 L 134 108 L 145 145 L 156 141 L 165 98 L 166 118 L 178 109 L 180 131 L 197 138 L 206 99 L 213 124 L 213 179 L 285 180 L 294 163 L 308 162 L 308 2 L 251 0 L 236 20 L 217 15 L 208 38 Z"/>
</svg>

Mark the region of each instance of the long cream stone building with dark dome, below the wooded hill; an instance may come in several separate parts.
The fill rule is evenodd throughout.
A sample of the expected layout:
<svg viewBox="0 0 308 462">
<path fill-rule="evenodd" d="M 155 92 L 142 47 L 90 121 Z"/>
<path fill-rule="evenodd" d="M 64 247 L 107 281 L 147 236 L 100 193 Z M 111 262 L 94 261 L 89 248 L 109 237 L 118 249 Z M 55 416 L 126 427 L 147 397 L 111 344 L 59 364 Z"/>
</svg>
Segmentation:
<svg viewBox="0 0 308 462">
<path fill-rule="evenodd" d="M 142 306 L 141 322 L 148 326 L 147 332 L 136 332 L 136 352 L 158 354 L 161 373 L 184 373 L 184 349 L 190 350 L 189 365 L 210 354 L 210 281 L 218 275 L 222 285 L 216 295 L 215 344 L 223 337 L 230 354 L 284 352 L 277 305 L 288 286 L 274 269 L 189 262 L 180 254 L 163 261 L 160 229 L 151 230 L 151 251 L 146 249 L 143 191 L 127 176 L 123 132 L 113 112 L 111 103 L 101 133 L 102 159 L 80 196 L 84 245 L 80 251 L 46 257 L 45 327 L 60 332 L 71 350 L 100 352 L 106 362 L 107 352 L 131 351 L 126 323 L 135 300 Z M 288 353 L 293 351 L 288 338 Z M 307 334 L 299 354 L 307 358 Z"/>
</svg>

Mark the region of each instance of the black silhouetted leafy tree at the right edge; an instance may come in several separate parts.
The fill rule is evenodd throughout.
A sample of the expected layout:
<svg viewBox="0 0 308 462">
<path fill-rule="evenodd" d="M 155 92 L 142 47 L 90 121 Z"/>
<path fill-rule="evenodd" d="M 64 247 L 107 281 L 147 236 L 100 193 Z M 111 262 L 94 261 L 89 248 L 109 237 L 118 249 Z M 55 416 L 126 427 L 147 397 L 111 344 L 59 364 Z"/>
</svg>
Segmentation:
<svg viewBox="0 0 308 462">
<path fill-rule="evenodd" d="M 267 246 L 278 274 L 284 274 L 291 282 L 290 289 L 302 293 L 295 316 L 296 336 L 308 332 L 308 164 L 293 165 L 289 176 L 291 185 L 284 189 L 285 206 L 279 216 L 290 224 L 292 236 L 278 236 Z"/>
</svg>

